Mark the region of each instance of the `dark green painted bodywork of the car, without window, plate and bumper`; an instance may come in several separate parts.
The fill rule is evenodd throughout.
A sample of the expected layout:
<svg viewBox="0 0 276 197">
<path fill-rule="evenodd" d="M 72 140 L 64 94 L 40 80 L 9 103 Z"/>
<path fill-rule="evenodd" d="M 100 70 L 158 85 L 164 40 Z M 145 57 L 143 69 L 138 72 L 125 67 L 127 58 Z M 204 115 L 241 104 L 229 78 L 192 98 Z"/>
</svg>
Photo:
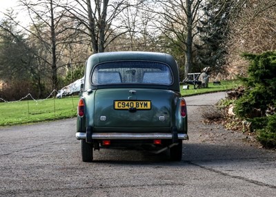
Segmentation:
<svg viewBox="0 0 276 197">
<path fill-rule="evenodd" d="M 112 84 L 92 86 L 90 76 L 93 68 L 102 62 L 153 61 L 170 66 L 173 83 Z M 88 90 L 92 89 L 92 92 Z M 130 91 L 136 91 L 134 94 Z M 187 117 L 179 111 L 179 72 L 175 59 L 164 53 L 116 52 L 91 55 L 86 64 L 84 91 L 81 97 L 86 104 L 83 118 L 77 118 L 77 132 L 85 132 L 87 126 L 99 132 L 170 132 L 172 126 L 179 133 L 187 133 Z M 150 110 L 115 110 L 115 100 L 149 100 Z"/>
</svg>

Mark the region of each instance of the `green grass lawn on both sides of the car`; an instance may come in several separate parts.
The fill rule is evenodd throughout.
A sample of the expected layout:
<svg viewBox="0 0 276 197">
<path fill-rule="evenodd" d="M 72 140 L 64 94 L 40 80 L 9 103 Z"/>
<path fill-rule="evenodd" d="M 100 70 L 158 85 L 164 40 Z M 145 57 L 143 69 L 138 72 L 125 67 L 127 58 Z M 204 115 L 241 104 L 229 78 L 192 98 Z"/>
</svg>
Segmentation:
<svg viewBox="0 0 276 197">
<path fill-rule="evenodd" d="M 239 86 L 237 81 L 224 81 L 221 85 L 208 84 L 208 88 L 183 89 L 181 95 L 197 95 L 217 91 L 226 91 Z M 30 99 L 30 98 L 29 98 Z M 77 115 L 79 96 L 63 97 L 62 99 L 48 98 L 47 100 L 22 100 L 20 102 L 0 102 L 0 126 L 28 124 L 32 122 L 72 118 Z"/>
</svg>

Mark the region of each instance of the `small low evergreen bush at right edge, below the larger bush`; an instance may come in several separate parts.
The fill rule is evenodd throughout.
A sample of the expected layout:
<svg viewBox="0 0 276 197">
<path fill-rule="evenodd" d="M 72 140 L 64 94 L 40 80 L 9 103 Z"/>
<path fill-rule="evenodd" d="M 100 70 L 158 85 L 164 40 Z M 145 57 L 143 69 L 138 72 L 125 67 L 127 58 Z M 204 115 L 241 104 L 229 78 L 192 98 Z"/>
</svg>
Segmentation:
<svg viewBox="0 0 276 197">
<path fill-rule="evenodd" d="M 266 127 L 257 131 L 257 140 L 259 140 L 264 147 L 276 147 L 276 115 L 268 116 L 268 124 Z"/>
</svg>

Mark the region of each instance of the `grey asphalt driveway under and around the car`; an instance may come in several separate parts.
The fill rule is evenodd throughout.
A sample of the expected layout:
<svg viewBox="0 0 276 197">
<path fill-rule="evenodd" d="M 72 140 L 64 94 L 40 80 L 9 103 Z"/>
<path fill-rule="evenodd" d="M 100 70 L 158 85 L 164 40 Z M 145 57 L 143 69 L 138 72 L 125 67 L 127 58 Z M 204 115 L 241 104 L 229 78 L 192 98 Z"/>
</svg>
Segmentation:
<svg viewBox="0 0 276 197">
<path fill-rule="evenodd" d="M 276 152 L 203 124 L 202 107 L 223 97 L 186 97 L 190 140 L 181 162 L 110 149 L 81 162 L 75 118 L 1 127 L 0 196 L 275 196 Z"/>
</svg>

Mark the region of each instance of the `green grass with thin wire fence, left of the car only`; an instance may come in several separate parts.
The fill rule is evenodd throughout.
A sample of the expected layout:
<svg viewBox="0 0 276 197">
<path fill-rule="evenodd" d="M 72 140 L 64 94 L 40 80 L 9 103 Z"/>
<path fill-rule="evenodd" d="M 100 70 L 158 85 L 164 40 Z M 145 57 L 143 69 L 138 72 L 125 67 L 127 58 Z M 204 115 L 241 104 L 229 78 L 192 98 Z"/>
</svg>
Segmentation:
<svg viewBox="0 0 276 197">
<path fill-rule="evenodd" d="M 0 126 L 75 117 L 79 96 L 57 99 L 56 92 L 53 90 L 41 100 L 34 99 L 30 93 L 16 101 L 0 97 Z"/>
</svg>

